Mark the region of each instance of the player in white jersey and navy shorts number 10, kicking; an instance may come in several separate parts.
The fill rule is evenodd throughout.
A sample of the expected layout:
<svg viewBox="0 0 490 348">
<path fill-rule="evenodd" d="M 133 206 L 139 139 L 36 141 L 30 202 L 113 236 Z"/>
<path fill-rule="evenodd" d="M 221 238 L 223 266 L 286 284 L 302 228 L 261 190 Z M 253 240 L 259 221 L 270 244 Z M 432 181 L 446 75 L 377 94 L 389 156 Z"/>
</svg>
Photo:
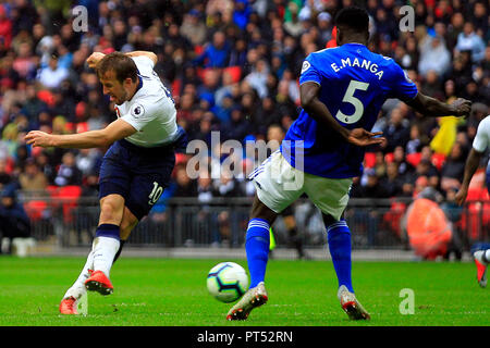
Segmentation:
<svg viewBox="0 0 490 348">
<path fill-rule="evenodd" d="M 87 289 L 112 294 L 113 261 L 168 186 L 175 148 L 185 146 L 173 99 L 154 71 L 156 62 L 157 55 L 146 51 L 93 53 L 88 66 L 97 70 L 103 94 L 115 103 L 118 120 L 98 130 L 71 135 L 33 130 L 26 136 L 34 147 L 111 146 L 100 166 L 99 224 L 82 273 L 60 303 L 63 314 L 77 314 L 77 301 Z"/>
</svg>

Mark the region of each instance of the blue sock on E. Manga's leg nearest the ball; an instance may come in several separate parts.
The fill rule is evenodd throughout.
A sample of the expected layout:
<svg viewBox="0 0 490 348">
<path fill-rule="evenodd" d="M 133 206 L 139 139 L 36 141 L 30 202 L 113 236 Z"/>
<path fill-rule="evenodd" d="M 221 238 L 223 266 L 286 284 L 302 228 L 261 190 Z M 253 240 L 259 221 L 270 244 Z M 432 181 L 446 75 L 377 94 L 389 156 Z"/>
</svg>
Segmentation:
<svg viewBox="0 0 490 348">
<path fill-rule="evenodd" d="M 256 287 L 266 277 L 269 259 L 269 223 L 262 219 L 252 219 L 248 222 L 245 250 L 250 272 L 250 288 Z"/>
</svg>

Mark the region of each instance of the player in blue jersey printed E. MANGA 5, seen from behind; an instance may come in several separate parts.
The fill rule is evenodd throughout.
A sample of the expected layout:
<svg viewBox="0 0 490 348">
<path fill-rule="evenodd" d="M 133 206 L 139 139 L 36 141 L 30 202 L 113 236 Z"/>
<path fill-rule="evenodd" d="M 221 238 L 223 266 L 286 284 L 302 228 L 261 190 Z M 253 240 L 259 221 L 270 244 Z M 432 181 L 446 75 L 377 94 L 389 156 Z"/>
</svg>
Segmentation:
<svg viewBox="0 0 490 348">
<path fill-rule="evenodd" d="M 467 100 L 445 104 L 422 95 L 391 58 L 369 51 L 368 24 L 364 9 L 351 7 L 338 13 L 338 47 L 305 59 L 299 77 L 303 110 L 280 150 L 249 175 L 256 186 L 245 241 L 250 288 L 230 309 L 228 320 L 245 320 L 267 302 L 269 228 L 303 194 L 322 213 L 342 309 L 351 320 L 369 320 L 354 295 L 351 231 L 343 219 L 352 178 L 363 172 L 365 147 L 385 140 L 381 133 L 366 129 L 372 128 L 388 98 L 427 116 L 465 116 L 470 111 Z"/>
</svg>

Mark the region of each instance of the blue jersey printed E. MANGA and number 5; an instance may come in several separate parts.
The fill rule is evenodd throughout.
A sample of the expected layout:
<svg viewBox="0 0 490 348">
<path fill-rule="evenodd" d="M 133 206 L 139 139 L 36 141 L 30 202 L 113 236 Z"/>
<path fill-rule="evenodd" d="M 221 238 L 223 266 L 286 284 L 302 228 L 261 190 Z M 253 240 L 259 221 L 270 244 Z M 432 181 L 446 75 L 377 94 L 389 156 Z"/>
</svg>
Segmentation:
<svg viewBox="0 0 490 348">
<path fill-rule="evenodd" d="M 309 54 L 299 77 L 299 84 L 307 82 L 320 85 L 319 100 L 347 129 L 371 130 L 388 98 L 411 100 L 417 96 L 417 87 L 400 65 L 360 44 Z M 348 144 L 305 110 L 287 130 L 281 152 L 292 166 L 322 177 L 346 178 L 363 172 L 365 148 Z"/>
</svg>

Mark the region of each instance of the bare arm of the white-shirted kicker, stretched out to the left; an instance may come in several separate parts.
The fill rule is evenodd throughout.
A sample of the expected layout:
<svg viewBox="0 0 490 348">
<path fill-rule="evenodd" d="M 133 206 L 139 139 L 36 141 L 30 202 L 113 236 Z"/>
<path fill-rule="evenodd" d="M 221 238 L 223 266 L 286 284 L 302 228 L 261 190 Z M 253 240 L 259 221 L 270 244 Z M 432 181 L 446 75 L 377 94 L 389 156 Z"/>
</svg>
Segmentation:
<svg viewBox="0 0 490 348">
<path fill-rule="evenodd" d="M 136 128 L 130 123 L 118 119 L 103 129 L 88 130 L 78 134 L 58 135 L 40 130 L 30 130 L 25 136 L 25 140 L 33 147 L 89 149 L 108 147 L 115 140 L 128 137 L 136 132 Z"/>
</svg>

